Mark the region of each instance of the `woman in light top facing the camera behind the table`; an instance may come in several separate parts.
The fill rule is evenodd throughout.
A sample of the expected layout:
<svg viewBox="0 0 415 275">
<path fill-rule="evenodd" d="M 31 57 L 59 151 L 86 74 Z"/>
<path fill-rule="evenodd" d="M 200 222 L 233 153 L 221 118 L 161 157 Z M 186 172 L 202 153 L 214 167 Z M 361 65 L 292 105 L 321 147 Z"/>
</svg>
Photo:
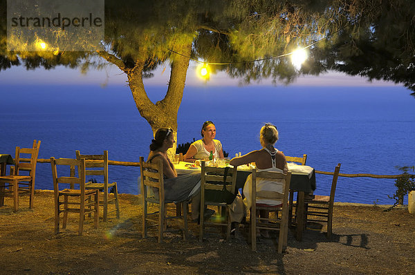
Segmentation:
<svg viewBox="0 0 415 275">
<path fill-rule="evenodd" d="M 209 158 L 212 151 L 214 158 L 223 158 L 222 144 L 219 140 L 214 140 L 216 136 L 216 127 L 213 122 L 203 123 L 201 130 L 202 139 L 196 140 L 190 144 L 187 153 L 184 155 L 185 162 L 194 162 L 195 160 L 205 160 Z"/>
</svg>

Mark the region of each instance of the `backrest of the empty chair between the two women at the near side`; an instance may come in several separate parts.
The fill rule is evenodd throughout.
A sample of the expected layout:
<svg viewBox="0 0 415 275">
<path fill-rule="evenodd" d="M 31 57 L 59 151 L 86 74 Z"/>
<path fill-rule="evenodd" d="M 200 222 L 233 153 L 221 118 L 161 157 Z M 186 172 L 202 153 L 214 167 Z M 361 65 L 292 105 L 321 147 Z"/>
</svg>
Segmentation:
<svg viewBox="0 0 415 275">
<path fill-rule="evenodd" d="M 204 190 L 222 190 L 223 189 L 223 177 L 225 175 L 225 168 L 222 167 L 206 167 L 204 161 L 201 162 L 201 186 Z M 226 176 L 226 189 L 231 193 L 235 192 L 237 186 L 237 167 L 233 167 L 228 170 Z M 204 190 L 202 195 L 204 194 Z"/>
</svg>

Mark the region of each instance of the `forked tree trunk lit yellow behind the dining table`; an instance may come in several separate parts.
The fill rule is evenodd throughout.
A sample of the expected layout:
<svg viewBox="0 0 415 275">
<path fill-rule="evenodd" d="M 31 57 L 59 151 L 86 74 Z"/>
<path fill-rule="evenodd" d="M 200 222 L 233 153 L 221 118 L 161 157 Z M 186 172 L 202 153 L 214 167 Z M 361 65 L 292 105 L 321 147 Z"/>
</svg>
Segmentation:
<svg viewBox="0 0 415 275">
<path fill-rule="evenodd" d="M 187 67 L 189 66 L 190 53 L 192 44 L 187 44 L 181 47 L 179 53 L 185 55 L 173 54 L 172 71 L 170 73 L 169 86 L 167 93 L 159 102 L 154 104 L 151 102 L 145 91 L 144 83 L 142 82 L 142 70 L 145 61 L 137 61 L 136 66 L 127 71 L 127 77 L 133 99 L 140 115 L 149 122 L 153 135 L 160 128 L 171 128 L 174 133 L 174 139 L 177 142 L 177 113 L 183 98 L 183 89 L 185 88 L 185 80 L 187 75 Z M 143 55 L 145 56 L 145 55 Z M 150 143 L 150 141 L 149 141 Z M 176 153 L 176 144 L 172 149 L 169 149 L 169 157 Z"/>
</svg>

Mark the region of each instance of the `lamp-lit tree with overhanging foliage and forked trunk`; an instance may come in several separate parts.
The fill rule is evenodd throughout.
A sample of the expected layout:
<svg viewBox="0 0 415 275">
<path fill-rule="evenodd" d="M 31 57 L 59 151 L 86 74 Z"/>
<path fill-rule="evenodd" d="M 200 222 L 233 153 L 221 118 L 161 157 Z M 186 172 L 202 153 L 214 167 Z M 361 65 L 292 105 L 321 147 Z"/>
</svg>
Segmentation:
<svg viewBox="0 0 415 275">
<path fill-rule="evenodd" d="M 105 36 L 93 52 L 9 52 L 6 0 L 0 0 L 0 70 L 57 65 L 104 66 L 126 73 L 136 106 L 154 131 L 176 130 L 190 59 L 255 82 L 292 82 L 301 74 L 336 70 L 384 79 L 415 91 L 415 2 L 411 0 L 125 0 L 105 1 Z M 289 60 L 308 47 L 300 70 Z M 142 81 L 171 64 L 166 96 L 153 103 Z M 1 73 L 1 72 L 0 72 Z"/>
</svg>

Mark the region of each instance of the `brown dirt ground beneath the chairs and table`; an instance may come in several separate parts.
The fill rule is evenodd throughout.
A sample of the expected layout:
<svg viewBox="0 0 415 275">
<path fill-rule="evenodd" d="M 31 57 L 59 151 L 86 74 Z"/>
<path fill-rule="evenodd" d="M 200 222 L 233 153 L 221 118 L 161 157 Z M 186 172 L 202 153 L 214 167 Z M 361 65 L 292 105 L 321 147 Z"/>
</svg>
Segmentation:
<svg viewBox="0 0 415 275">
<path fill-rule="evenodd" d="M 0 207 L 1 274 L 414 274 L 415 215 L 407 209 L 336 204 L 333 238 L 326 227 L 311 225 L 303 240 L 288 232 L 288 247 L 277 254 L 275 238 L 260 238 L 257 252 L 247 243 L 248 226 L 225 242 L 208 234 L 199 243 L 199 227 L 190 222 L 190 238 L 166 234 L 165 243 L 141 235 L 138 196 L 120 194 L 121 218 L 87 218 L 77 236 L 76 214 L 53 234 L 53 192 L 39 191 L 35 208 L 20 199 Z M 151 232 L 152 233 L 152 232 Z"/>
</svg>

